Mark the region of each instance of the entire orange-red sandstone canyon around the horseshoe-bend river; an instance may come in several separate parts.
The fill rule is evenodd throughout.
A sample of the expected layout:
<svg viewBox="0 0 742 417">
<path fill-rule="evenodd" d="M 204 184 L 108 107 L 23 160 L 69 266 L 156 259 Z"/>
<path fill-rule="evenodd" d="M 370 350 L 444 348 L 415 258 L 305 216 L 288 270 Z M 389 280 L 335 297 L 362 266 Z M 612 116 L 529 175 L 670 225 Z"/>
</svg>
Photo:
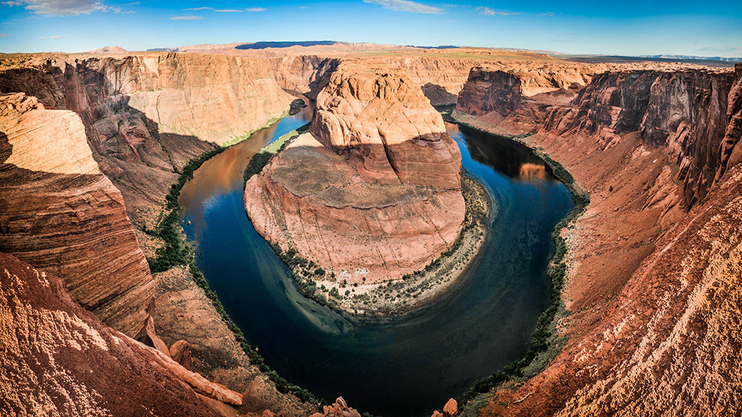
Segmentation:
<svg viewBox="0 0 742 417">
<path fill-rule="evenodd" d="M 194 416 L 351 413 L 342 398 L 321 408 L 280 393 L 185 267 L 151 274 L 147 265 L 162 244 L 148 232 L 186 162 L 282 116 L 295 98 L 282 87 L 316 99 L 311 133 L 250 179 L 247 211 L 263 236 L 289 241 L 281 237 L 289 233 L 306 258 L 347 265 L 338 272 L 368 269 L 372 281 L 413 272 L 458 235 L 461 156 L 431 104 L 456 103 L 451 116 L 460 123 L 536 148 L 589 194 L 585 213 L 562 231 L 560 299 L 569 314 L 559 316 L 554 335 L 567 339 L 563 348 L 535 376 L 487 387 L 458 409 L 483 416 L 742 411 L 741 64 L 582 64 L 466 48 L 17 61 L 0 67 L 1 323 L 16 326 L 3 332 L 13 355 L 0 358 L 0 370 L 24 387 L 4 398 L 9 413 L 56 407 L 64 415 L 125 415 L 139 407 L 128 401 L 135 395 L 148 410 Z M 402 203 L 430 222 L 404 226 L 419 216 L 390 208 Z M 277 213 L 286 213 L 285 230 Z M 389 230 L 429 238 L 415 246 L 412 235 L 393 236 L 398 249 L 417 251 L 413 261 L 394 264 L 394 247 L 353 256 L 367 244 L 354 246 L 356 238 L 341 232 L 379 218 L 395 224 Z M 324 241 L 316 240 L 321 233 L 298 233 L 319 227 L 339 232 Z M 148 311 L 153 298 L 157 307 Z M 171 345 L 167 355 L 129 338 L 145 320 Z M 29 341 L 32 334 L 44 340 Z M 183 348 L 173 347 L 180 340 L 190 346 L 193 373 L 170 358 L 182 358 Z M 39 351 L 19 348 L 27 344 Z M 84 365 L 89 353 L 94 369 Z M 47 373 L 43 384 L 25 376 L 37 356 L 50 358 L 33 365 Z M 51 374 L 75 382 L 52 387 Z M 191 388 L 188 379 L 199 374 L 242 404 Z M 101 375 L 116 377 L 115 391 Z M 141 388 L 134 394 L 132 387 Z M 38 408 L 26 408 L 31 397 L 42 398 Z M 443 410 L 453 413 L 448 404 Z"/>
</svg>

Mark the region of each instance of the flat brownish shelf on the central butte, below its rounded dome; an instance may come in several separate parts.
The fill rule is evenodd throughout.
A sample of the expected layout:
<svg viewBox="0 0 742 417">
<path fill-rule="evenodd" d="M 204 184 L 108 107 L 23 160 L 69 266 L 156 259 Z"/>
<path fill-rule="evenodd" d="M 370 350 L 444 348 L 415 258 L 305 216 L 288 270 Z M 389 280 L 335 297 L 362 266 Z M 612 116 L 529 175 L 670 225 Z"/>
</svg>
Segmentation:
<svg viewBox="0 0 742 417">
<path fill-rule="evenodd" d="M 364 181 L 353 161 L 322 146 L 311 133 L 286 145 L 272 166 L 273 181 L 283 184 L 295 196 L 313 195 L 329 207 L 388 207 L 432 195 L 425 187 Z"/>
</svg>

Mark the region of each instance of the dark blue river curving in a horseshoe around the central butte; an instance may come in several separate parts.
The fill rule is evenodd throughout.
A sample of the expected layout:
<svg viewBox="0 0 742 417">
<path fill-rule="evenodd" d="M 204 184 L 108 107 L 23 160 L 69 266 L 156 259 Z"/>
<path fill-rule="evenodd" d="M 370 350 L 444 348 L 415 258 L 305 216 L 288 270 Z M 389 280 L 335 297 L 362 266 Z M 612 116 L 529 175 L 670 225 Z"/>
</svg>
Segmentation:
<svg viewBox="0 0 742 417">
<path fill-rule="evenodd" d="M 528 148 L 447 124 L 464 168 L 499 207 L 479 264 L 457 290 L 393 324 L 357 323 L 303 298 L 243 206 L 249 158 L 305 124 L 289 116 L 206 161 L 180 193 L 181 224 L 211 288 L 266 362 L 333 401 L 382 416 L 430 416 L 477 378 L 522 358 L 551 291 L 551 230 L 571 195 Z M 191 221 L 191 225 L 185 224 Z"/>
</svg>

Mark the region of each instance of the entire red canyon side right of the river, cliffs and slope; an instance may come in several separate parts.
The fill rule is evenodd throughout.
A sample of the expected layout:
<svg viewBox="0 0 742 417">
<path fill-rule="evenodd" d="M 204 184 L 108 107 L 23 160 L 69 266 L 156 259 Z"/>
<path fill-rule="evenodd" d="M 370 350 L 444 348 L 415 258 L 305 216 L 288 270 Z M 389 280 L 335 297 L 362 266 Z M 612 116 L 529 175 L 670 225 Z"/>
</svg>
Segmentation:
<svg viewBox="0 0 742 417">
<path fill-rule="evenodd" d="M 738 152 L 739 88 L 728 71 L 605 73 L 525 139 L 591 193 L 565 232 L 571 338 L 482 415 L 742 413 L 742 167 L 728 157 Z"/>
</svg>

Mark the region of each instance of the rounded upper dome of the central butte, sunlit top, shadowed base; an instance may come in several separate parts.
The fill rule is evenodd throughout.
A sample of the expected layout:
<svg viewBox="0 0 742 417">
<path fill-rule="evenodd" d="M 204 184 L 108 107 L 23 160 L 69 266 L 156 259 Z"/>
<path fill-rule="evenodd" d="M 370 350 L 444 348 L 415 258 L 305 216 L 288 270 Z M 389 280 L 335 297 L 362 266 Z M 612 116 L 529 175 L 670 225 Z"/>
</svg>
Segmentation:
<svg viewBox="0 0 742 417">
<path fill-rule="evenodd" d="M 406 78 L 338 72 L 317 97 L 312 134 L 361 159 L 381 184 L 459 188 L 461 154 L 443 119 Z"/>
</svg>

